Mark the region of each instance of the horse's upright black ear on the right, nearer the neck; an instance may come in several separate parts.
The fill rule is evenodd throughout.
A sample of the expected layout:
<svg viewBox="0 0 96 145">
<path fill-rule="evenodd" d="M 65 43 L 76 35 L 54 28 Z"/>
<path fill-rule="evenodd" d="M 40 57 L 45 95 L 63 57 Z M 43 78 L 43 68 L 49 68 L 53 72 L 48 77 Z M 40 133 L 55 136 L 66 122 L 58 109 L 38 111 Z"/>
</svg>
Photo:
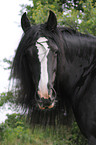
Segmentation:
<svg viewBox="0 0 96 145">
<path fill-rule="evenodd" d="M 57 18 L 55 14 L 50 10 L 48 21 L 47 21 L 47 28 L 48 30 L 54 31 L 57 27 Z"/>
</svg>

